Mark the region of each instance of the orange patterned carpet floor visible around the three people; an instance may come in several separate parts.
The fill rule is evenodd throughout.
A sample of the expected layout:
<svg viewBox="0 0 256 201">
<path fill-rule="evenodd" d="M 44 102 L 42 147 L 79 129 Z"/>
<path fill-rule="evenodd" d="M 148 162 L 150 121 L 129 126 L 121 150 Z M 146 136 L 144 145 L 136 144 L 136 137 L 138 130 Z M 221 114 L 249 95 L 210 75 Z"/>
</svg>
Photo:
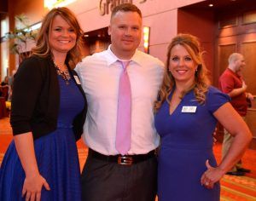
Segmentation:
<svg viewBox="0 0 256 201">
<path fill-rule="evenodd" d="M 0 164 L 9 142 L 12 140 L 9 118 L 0 119 Z M 80 140 L 77 143 L 80 167 L 83 169 L 88 149 Z M 221 158 L 221 144 L 213 148 L 218 160 Z M 252 172 L 246 176 L 224 175 L 221 180 L 221 201 L 256 201 L 256 150 L 247 150 L 242 158 L 244 167 Z"/>
</svg>

